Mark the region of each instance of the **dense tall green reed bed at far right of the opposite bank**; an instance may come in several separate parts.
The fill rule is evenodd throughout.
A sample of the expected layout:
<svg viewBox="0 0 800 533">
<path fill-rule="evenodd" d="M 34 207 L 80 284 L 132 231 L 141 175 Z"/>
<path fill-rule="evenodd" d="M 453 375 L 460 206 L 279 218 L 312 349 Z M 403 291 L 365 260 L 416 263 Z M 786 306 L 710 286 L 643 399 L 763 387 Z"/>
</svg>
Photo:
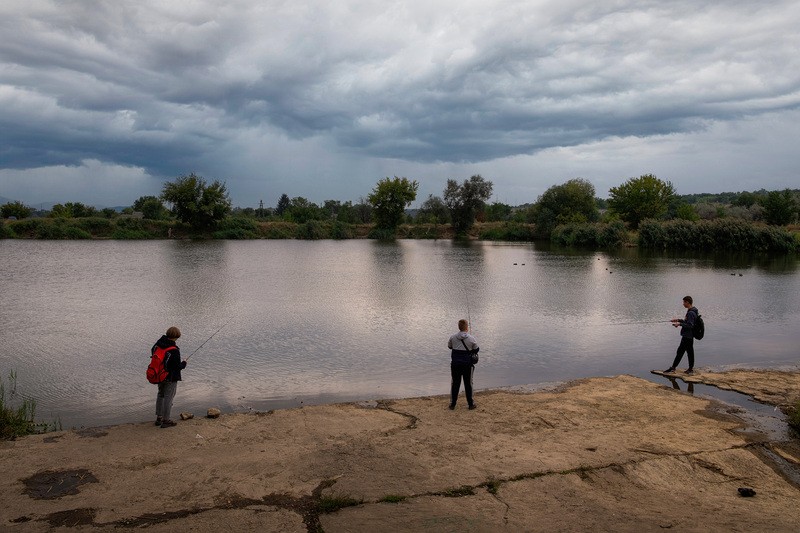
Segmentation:
<svg viewBox="0 0 800 533">
<path fill-rule="evenodd" d="M 798 250 L 797 238 L 785 228 L 739 219 L 645 220 L 639 226 L 642 248 L 782 252 Z"/>
</svg>

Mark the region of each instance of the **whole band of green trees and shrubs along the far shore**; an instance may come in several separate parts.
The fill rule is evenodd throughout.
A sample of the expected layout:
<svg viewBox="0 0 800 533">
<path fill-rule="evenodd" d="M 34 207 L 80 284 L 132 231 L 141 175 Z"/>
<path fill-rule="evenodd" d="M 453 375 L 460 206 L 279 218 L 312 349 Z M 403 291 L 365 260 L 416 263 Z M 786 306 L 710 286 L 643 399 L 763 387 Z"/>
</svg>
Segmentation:
<svg viewBox="0 0 800 533">
<path fill-rule="evenodd" d="M 576 178 L 532 204 L 488 202 L 492 183 L 448 180 L 442 197 L 407 209 L 418 184 L 385 178 L 357 203 L 281 195 L 276 207 L 232 208 L 224 183 L 194 174 L 167 182 L 120 214 L 81 203 L 36 212 L 0 206 L 0 238 L 33 239 L 451 239 L 549 240 L 562 246 L 795 252 L 800 190 L 678 195 L 647 174 L 612 187 L 608 199 Z M 168 207 L 171 206 L 171 207 Z"/>
</svg>

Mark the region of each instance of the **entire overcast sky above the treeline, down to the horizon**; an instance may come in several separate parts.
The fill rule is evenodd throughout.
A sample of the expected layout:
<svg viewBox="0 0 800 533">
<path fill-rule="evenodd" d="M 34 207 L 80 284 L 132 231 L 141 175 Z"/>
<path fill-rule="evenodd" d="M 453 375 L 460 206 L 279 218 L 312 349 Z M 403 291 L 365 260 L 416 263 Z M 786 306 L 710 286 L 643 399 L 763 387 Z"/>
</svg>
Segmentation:
<svg viewBox="0 0 800 533">
<path fill-rule="evenodd" d="M 800 187 L 800 2 L 3 0 L 0 196 Z"/>
</svg>

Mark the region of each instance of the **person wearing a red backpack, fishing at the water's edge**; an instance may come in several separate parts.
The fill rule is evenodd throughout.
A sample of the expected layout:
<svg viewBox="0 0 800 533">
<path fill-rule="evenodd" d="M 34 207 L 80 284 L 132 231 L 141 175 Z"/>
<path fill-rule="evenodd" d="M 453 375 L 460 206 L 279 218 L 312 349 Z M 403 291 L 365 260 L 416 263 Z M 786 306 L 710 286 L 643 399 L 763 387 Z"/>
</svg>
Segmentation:
<svg viewBox="0 0 800 533">
<path fill-rule="evenodd" d="M 153 371 L 148 368 L 147 378 L 158 384 L 156 425 L 162 428 L 176 425 L 169 416 L 172 410 L 172 401 L 178 391 L 178 382 L 181 380 L 181 370 L 186 368 L 186 361 L 181 361 L 181 350 L 175 344 L 180 336 L 181 330 L 171 326 L 167 333 L 162 335 L 150 349 L 150 367 L 153 368 Z M 152 378 L 151 375 L 153 375 Z"/>
</svg>

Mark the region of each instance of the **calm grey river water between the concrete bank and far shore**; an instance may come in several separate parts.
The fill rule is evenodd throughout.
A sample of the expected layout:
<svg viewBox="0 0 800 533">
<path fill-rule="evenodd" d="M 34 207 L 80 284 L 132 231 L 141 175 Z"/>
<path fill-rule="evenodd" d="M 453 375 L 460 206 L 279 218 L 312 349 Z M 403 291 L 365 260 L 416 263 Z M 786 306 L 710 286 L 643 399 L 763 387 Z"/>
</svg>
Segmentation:
<svg viewBox="0 0 800 533">
<path fill-rule="evenodd" d="M 544 246 L 544 247 L 543 247 Z M 669 366 L 690 294 L 699 367 L 796 367 L 797 258 L 450 241 L 0 241 L 0 371 L 65 428 L 150 420 L 176 325 L 174 412 L 446 394 L 469 315 L 478 389 Z M 222 328 L 222 329 L 220 329 Z M 685 360 L 683 366 L 686 366 Z M 662 380 L 663 381 L 663 380 Z M 7 398 L 8 399 L 8 398 Z M 445 400 L 443 400 L 444 402 Z M 443 403 L 444 405 L 444 403 Z"/>
</svg>

